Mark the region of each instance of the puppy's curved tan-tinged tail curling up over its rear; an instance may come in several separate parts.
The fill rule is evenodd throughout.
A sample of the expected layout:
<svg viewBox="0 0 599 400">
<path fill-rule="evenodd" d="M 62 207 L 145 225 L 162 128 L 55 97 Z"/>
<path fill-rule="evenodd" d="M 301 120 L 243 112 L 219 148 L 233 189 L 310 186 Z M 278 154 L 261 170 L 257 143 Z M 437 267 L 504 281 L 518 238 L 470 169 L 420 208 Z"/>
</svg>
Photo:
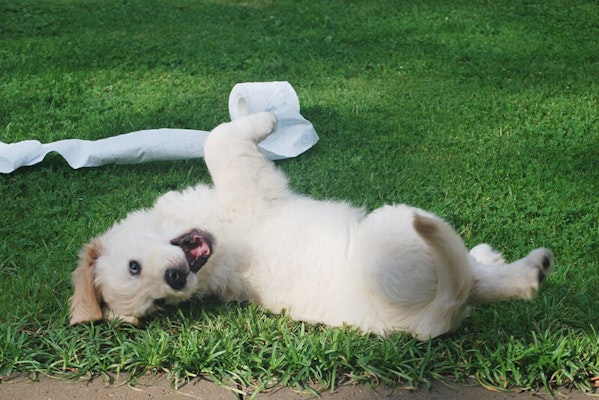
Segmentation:
<svg viewBox="0 0 599 400">
<path fill-rule="evenodd" d="M 455 327 L 464 316 L 472 288 L 472 273 L 464 242 L 442 220 L 416 213 L 413 224 L 436 258 L 437 292 L 429 305 L 430 311 L 434 310 L 431 314 L 436 314 L 436 318 L 439 314 L 444 315 L 448 325 Z"/>
</svg>

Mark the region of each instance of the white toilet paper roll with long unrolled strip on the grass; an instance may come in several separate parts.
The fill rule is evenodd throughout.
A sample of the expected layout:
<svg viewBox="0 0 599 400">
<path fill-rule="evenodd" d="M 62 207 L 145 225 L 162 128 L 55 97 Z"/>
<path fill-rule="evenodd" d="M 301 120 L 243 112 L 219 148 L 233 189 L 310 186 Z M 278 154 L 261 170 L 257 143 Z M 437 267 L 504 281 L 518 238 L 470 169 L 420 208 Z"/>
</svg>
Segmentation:
<svg viewBox="0 0 599 400">
<path fill-rule="evenodd" d="M 270 159 L 295 157 L 318 141 L 312 124 L 301 116 L 297 94 L 288 82 L 250 82 L 233 87 L 229 96 L 231 120 L 259 111 L 271 111 L 279 120 L 277 130 L 260 143 L 260 148 Z M 163 128 L 93 141 L 0 142 L 0 173 L 37 164 L 51 152 L 60 154 L 75 169 L 111 163 L 200 158 L 204 156 L 207 136 L 207 131 Z"/>
</svg>

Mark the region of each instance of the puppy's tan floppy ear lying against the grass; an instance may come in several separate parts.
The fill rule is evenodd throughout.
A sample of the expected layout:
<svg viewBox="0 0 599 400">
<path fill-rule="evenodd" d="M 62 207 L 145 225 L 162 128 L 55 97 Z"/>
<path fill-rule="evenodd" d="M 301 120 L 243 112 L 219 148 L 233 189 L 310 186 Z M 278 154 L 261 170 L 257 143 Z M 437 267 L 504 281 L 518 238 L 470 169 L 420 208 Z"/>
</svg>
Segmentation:
<svg viewBox="0 0 599 400">
<path fill-rule="evenodd" d="M 72 274 L 75 292 L 70 299 L 71 325 L 102 319 L 102 294 L 94 284 L 95 263 L 101 254 L 102 243 L 98 238 L 88 243 L 79 254 L 79 265 Z"/>
</svg>

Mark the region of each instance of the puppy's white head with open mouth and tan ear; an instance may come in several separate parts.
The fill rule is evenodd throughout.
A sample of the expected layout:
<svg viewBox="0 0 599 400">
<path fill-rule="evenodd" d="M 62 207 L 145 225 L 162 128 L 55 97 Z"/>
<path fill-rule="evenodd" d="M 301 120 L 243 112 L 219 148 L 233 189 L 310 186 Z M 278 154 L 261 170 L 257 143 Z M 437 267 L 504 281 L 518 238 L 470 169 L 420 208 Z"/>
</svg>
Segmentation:
<svg viewBox="0 0 599 400">
<path fill-rule="evenodd" d="M 148 213 L 129 216 L 81 251 L 72 274 L 71 325 L 103 317 L 138 325 L 161 305 L 189 299 L 213 245 L 200 229 L 175 232 Z"/>
</svg>

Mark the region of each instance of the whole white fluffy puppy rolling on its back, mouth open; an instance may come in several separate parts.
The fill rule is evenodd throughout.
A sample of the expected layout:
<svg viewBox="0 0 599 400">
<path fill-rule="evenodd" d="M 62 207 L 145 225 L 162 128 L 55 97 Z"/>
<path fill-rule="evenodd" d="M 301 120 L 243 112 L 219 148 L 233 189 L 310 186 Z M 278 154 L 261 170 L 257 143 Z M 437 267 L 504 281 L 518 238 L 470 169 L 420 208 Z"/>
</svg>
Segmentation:
<svg viewBox="0 0 599 400">
<path fill-rule="evenodd" d="M 205 145 L 213 187 L 169 192 L 93 239 L 73 272 L 71 323 L 138 324 L 163 304 L 211 294 L 424 340 L 457 328 L 469 305 L 532 299 L 550 273 L 550 250 L 511 264 L 488 245 L 468 253 L 417 208 L 367 215 L 293 193 L 257 148 L 275 125 L 264 112 L 218 126 Z"/>
</svg>

